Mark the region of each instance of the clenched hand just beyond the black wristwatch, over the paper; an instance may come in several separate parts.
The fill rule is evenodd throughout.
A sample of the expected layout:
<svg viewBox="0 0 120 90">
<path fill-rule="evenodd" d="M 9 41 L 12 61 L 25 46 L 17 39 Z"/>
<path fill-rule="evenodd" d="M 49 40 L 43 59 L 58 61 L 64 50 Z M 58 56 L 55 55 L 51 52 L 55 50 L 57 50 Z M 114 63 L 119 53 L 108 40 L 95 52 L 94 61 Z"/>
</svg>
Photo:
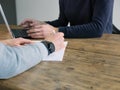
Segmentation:
<svg viewBox="0 0 120 90">
<path fill-rule="evenodd" d="M 50 41 L 55 45 L 55 51 L 58 51 L 65 47 L 63 33 L 51 34 L 50 36 L 46 37 L 45 40 Z"/>
</svg>

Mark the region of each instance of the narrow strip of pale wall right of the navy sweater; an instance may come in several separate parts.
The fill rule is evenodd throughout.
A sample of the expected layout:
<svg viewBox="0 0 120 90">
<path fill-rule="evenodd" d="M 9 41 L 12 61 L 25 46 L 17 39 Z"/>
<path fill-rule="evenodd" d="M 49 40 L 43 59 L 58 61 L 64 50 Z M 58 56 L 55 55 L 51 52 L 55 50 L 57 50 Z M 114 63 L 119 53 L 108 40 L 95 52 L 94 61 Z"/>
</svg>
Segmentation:
<svg viewBox="0 0 120 90">
<path fill-rule="evenodd" d="M 114 0 L 113 24 L 120 29 L 120 0 Z"/>
</svg>

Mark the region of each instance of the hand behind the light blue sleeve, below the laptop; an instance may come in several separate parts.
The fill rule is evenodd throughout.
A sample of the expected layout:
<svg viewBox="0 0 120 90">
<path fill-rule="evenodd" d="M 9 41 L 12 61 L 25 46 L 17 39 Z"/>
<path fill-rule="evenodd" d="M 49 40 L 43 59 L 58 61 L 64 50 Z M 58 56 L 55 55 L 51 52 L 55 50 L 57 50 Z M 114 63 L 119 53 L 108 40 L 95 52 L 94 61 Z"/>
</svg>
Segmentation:
<svg viewBox="0 0 120 90">
<path fill-rule="evenodd" d="M 8 39 L 8 40 L 3 40 L 1 42 L 5 45 L 9 45 L 9 46 L 21 46 L 24 44 L 33 43 L 31 40 L 23 39 L 23 38 Z"/>
</svg>

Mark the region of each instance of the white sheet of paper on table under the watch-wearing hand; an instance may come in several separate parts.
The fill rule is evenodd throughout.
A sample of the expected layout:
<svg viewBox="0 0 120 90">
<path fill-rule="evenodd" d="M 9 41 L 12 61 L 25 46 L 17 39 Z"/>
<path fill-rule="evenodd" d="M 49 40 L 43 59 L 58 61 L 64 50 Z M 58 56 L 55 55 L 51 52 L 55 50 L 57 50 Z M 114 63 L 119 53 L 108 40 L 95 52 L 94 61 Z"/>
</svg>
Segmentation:
<svg viewBox="0 0 120 90">
<path fill-rule="evenodd" d="M 64 44 L 65 44 L 65 48 L 50 54 L 49 56 L 44 58 L 43 61 L 62 61 L 68 42 L 66 41 L 64 42 Z"/>
</svg>

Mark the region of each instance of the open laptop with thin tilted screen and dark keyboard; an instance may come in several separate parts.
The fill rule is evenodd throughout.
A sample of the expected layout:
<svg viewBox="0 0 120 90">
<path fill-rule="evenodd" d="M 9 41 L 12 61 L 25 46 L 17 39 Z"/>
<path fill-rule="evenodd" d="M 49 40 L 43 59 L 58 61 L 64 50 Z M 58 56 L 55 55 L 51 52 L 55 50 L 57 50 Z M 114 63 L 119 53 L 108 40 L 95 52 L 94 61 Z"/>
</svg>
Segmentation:
<svg viewBox="0 0 120 90">
<path fill-rule="evenodd" d="M 23 38 L 31 38 L 30 36 L 28 36 L 27 34 L 27 30 L 28 29 L 10 29 L 10 26 L 8 24 L 8 21 L 6 19 L 6 16 L 4 14 L 4 11 L 2 9 L 2 6 L 0 4 L 0 13 L 1 13 L 1 17 L 3 18 L 3 21 L 6 25 L 6 28 L 8 30 L 8 32 L 10 33 L 12 38 L 19 38 L 19 37 L 23 37 Z"/>
</svg>

